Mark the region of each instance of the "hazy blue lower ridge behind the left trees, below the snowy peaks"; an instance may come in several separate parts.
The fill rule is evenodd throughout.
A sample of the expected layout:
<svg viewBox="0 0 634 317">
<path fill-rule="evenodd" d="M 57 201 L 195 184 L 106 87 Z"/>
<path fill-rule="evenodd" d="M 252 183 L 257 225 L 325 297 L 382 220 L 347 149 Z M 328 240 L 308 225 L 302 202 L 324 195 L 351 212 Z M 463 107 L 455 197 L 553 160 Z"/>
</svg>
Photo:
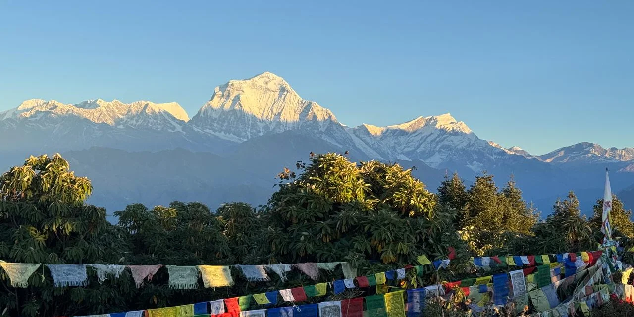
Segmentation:
<svg viewBox="0 0 634 317">
<path fill-rule="evenodd" d="M 266 202 L 273 186 L 250 167 L 211 153 L 94 147 L 62 154 L 75 174 L 93 181 L 89 202 L 107 207 L 108 214 L 134 202 L 153 206 L 172 200 L 200 201 L 214 209 L 233 200 L 259 204 Z"/>
</svg>

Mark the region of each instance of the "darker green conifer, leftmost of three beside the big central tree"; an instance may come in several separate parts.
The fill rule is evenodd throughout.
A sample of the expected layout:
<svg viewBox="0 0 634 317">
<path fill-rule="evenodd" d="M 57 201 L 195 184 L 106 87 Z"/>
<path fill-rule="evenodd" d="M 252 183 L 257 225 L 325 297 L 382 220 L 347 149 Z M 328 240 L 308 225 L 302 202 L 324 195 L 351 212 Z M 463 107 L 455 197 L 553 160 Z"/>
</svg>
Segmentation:
<svg viewBox="0 0 634 317">
<path fill-rule="evenodd" d="M 467 207 L 467 188 L 462 178 L 453 173 L 451 179 L 445 174 L 444 181 L 438 187 L 438 202 L 445 207 L 456 210 L 454 219 L 456 228 L 463 228 L 467 220 L 465 209 Z"/>
</svg>

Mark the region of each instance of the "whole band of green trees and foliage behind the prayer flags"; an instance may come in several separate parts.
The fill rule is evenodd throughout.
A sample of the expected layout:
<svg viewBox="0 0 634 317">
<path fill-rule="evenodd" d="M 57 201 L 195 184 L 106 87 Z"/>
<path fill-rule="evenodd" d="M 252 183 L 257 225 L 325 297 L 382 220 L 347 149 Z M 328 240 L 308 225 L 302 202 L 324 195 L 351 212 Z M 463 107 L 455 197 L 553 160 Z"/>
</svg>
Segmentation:
<svg viewBox="0 0 634 317">
<path fill-rule="evenodd" d="M 366 275 L 415 264 L 416 257 L 456 261 L 447 271 L 408 276 L 400 287 L 456 280 L 472 273 L 471 256 L 545 254 L 589 250 L 600 233 L 600 206 L 587 221 L 569 193 L 553 213 L 538 222 L 513 179 L 501 189 L 483 174 L 469 189 L 454 174 L 430 193 L 398 164 L 349 162 L 335 153 L 311 155 L 285 169 L 268 204 L 221 205 L 216 212 L 198 202 L 172 202 L 148 208 L 131 204 L 115 212 L 86 204 L 88 179 L 74 175 L 60 155 L 30 157 L 0 176 L 0 259 L 65 264 L 227 265 L 348 261 Z M 634 226 L 618 198 L 612 217 L 621 245 L 634 246 Z M 634 252 L 624 262 L 634 263 Z M 89 269 L 89 286 L 54 288 L 42 267 L 29 288 L 10 287 L 0 270 L 1 316 L 80 315 L 129 311 L 210 301 L 313 283 L 289 273 L 287 281 L 249 283 L 233 271 L 234 287 L 175 290 L 162 269 L 145 287 L 129 273 L 99 283 Z M 430 274 L 431 273 L 431 274 Z M 329 273 L 322 280 L 340 278 Z M 352 291 L 351 291 L 352 292 Z M 347 295 L 360 295 L 354 290 Z M 342 299 L 342 295 L 332 299 Z M 458 302 L 430 304 L 425 316 L 463 316 Z M 511 316 L 514 307 L 497 313 Z M 524 310 L 526 312 L 526 309 Z M 602 316 L 602 315 L 597 315 Z"/>
</svg>

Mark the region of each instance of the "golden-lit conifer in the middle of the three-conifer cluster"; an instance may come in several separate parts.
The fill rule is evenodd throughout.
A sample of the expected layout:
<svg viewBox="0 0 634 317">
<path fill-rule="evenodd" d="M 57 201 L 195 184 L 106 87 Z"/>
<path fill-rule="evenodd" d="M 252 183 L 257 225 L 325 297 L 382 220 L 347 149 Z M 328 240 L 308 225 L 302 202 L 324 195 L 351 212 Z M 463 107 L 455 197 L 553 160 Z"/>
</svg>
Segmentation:
<svg viewBox="0 0 634 317">
<path fill-rule="evenodd" d="M 493 175 L 482 174 L 475 177 L 475 183 L 467 191 L 468 214 L 466 224 L 475 230 L 500 230 L 503 213 L 498 208 L 498 188 Z"/>
</svg>

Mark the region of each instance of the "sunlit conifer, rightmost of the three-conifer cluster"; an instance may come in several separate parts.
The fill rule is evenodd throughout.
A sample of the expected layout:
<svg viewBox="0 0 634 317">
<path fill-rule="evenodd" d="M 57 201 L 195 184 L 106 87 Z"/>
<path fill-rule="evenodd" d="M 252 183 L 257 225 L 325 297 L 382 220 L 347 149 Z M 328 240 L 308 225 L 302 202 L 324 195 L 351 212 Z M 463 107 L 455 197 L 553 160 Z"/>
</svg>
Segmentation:
<svg viewBox="0 0 634 317">
<path fill-rule="evenodd" d="M 529 233 L 538 216 L 533 207 L 527 207 L 522 191 L 515 186 L 513 176 L 500 192 L 498 208 L 504 212 L 503 227 L 507 230 Z"/>
</svg>

